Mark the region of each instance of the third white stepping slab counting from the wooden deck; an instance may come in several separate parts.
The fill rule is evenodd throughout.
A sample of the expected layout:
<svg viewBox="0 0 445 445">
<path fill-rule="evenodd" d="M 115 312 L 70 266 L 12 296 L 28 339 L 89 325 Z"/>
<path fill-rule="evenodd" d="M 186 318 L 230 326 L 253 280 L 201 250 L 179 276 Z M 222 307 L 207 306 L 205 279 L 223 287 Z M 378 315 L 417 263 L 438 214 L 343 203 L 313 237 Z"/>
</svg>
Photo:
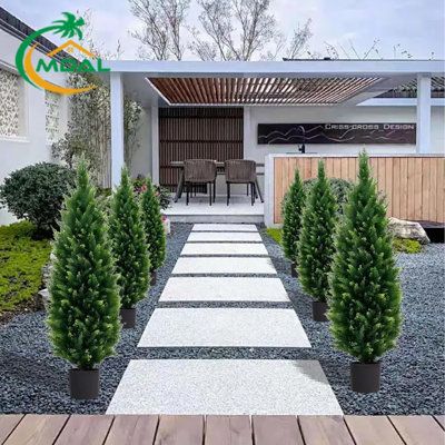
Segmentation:
<svg viewBox="0 0 445 445">
<path fill-rule="evenodd" d="M 279 278 L 171 277 L 160 301 L 289 301 Z"/>
</svg>

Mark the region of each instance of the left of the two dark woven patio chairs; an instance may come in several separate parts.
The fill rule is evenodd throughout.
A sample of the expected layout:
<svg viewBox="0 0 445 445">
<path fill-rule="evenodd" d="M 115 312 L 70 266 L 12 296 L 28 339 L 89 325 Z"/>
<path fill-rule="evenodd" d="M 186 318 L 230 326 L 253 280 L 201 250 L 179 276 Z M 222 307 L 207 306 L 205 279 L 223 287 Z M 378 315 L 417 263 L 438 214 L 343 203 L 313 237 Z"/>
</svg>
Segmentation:
<svg viewBox="0 0 445 445">
<path fill-rule="evenodd" d="M 209 190 L 209 204 L 215 202 L 216 197 L 216 161 L 210 159 L 187 159 L 184 161 L 184 182 L 186 186 L 186 204 L 194 186 L 207 185 Z M 212 190 L 211 190 L 211 186 Z"/>
</svg>

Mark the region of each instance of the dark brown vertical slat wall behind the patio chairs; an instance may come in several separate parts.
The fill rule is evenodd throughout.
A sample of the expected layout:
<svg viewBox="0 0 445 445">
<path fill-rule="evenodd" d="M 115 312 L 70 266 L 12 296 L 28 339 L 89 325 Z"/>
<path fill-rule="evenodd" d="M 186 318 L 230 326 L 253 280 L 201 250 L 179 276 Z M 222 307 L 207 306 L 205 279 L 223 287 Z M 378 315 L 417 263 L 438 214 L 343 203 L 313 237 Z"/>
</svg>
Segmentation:
<svg viewBox="0 0 445 445">
<path fill-rule="evenodd" d="M 171 161 L 243 159 L 243 108 L 160 108 L 160 184 L 176 188 L 179 170 Z"/>
</svg>

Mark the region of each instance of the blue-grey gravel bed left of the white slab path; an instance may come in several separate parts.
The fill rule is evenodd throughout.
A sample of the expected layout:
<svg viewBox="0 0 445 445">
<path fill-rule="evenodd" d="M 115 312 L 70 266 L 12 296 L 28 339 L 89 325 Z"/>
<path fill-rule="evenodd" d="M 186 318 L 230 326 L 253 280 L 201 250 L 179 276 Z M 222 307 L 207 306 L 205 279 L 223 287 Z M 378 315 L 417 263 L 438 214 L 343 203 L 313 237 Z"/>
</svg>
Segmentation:
<svg viewBox="0 0 445 445">
<path fill-rule="evenodd" d="M 19 315 L 0 326 L 0 413 L 105 413 L 155 305 L 182 250 L 192 225 L 172 225 L 166 264 L 157 284 L 138 305 L 137 327 L 123 329 L 117 355 L 107 358 L 100 370 L 101 392 L 96 400 L 71 400 L 68 394 L 70 365 L 52 355 L 43 312 Z"/>
</svg>

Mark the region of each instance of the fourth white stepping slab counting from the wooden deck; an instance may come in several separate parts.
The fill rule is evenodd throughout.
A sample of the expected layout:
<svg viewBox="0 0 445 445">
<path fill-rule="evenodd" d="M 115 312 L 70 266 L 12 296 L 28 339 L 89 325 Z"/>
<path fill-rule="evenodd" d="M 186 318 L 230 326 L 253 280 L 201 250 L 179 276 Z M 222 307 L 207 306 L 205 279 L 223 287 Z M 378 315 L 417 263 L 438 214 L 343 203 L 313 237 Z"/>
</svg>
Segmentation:
<svg viewBox="0 0 445 445">
<path fill-rule="evenodd" d="M 270 258 L 200 258 L 180 257 L 175 265 L 172 275 L 184 274 L 269 274 L 277 271 Z"/>
</svg>

